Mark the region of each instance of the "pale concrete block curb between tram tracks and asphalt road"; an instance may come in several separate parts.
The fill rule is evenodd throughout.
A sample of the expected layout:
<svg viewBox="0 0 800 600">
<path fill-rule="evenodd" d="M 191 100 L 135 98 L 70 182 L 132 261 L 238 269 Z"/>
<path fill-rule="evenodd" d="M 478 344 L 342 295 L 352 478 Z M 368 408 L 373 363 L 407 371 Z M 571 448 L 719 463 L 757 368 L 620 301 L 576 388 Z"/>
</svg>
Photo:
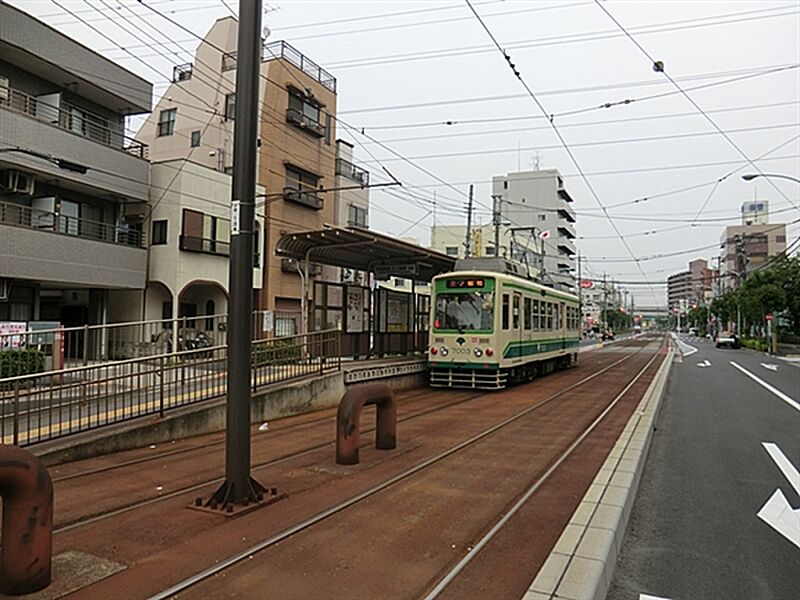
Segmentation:
<svg viewBox="0 0 800 600">
<path fill-rule="evenodd" d="M 522 600 L 602 600 L 611 585 L 675 355 L 672 345 Z"/>
</svg>

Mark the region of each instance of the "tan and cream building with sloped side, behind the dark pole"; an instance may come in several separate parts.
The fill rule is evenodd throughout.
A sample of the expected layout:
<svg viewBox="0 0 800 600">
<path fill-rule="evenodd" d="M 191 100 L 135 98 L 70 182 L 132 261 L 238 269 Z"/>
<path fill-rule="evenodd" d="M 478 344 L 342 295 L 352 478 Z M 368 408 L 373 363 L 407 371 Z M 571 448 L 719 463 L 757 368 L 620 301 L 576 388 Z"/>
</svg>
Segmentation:
<svg viewBox="0 0 800 600">
<path fill-rule="evenodd" d="M 237 21 L 219 19 L 191 64 L 175 67 L 173 83 L 137 139 L 154 161 L 188 159 L 223 173 L 233 165 Z M 336 79 L 283 41 L 262 47 L 256 212 L 265 219 L 263 287 L 256 306 L 298 314 L 306 284 L 291 260 L 275 256 L 277 240 L 335 222 Z M 202 195 L 202 194 L 200 194 Z M 200 207 L 198 210 L 202 211 Z M 284 327 L 284 330 L 286 328 Z"/>
</svg>

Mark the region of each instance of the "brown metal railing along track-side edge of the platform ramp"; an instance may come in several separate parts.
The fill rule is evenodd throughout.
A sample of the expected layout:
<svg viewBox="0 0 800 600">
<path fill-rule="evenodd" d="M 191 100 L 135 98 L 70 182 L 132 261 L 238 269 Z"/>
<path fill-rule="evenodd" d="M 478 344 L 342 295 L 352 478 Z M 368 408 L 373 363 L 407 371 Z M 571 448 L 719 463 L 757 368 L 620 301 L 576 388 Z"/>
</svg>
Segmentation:
<svg viewBox="0 0 800 600">
<path fill-rule="evenodd" d="M 337 371 L 339 331 L 253 342 L 251 386 Z M 27 446 L 223 397 L 227 348 L 213 346 L 0 380 L 0 441 Z"/>
</svg>

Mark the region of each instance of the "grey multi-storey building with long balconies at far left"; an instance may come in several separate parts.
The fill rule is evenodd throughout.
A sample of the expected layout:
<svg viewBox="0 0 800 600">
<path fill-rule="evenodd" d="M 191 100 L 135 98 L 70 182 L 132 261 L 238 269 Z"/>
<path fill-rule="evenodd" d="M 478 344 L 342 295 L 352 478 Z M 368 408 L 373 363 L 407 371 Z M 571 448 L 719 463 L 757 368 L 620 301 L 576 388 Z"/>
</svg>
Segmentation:
<svg viewBox="0 0 800 600">
<path fill-rule="evenodd" d="M 144 290 L 152 86 L 0 2 L 0 321 L 114 320 Z"/>
</svg>

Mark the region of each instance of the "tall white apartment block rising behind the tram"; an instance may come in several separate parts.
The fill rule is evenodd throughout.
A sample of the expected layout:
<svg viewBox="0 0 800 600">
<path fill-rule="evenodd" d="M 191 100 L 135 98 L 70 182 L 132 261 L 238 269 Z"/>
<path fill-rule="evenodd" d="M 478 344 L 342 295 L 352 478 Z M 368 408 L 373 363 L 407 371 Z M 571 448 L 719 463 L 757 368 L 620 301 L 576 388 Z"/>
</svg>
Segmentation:
<svg viewBox="0 0 800 600">
<path fill-rule="evenodd" d="M 504 228 L 516 230 L 515 238 L 529 242 L 518 247 L 518 253 L 535 253 L 544 233 L 543 274 L 561 286 L 574 288 L 575 279 L 575 211 L 572 197 L 564 188 L 557 169 L 508 173 L 492 177 L 495 211 Z M 535 237 L 533 237 L 535 236 Z M 513 248 L 512 258 L 513 258 Z"/>
</svg>

